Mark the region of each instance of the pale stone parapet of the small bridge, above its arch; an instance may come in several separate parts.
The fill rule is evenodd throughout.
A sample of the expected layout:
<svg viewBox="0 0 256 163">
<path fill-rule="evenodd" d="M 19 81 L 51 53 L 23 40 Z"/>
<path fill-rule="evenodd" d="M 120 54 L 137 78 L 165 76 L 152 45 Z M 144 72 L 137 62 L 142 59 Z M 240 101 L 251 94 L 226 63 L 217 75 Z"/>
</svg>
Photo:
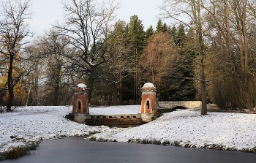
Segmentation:
<svg viewBox="0 0 256 163">
<path fill-rule="evenodd" d="M 159 107 L 173 109 L 174 107 L 185 107 L 187 109 L 192 109 L 195 107 L 201 107 L 201 101 L 159 101 Z"/>
</svg>

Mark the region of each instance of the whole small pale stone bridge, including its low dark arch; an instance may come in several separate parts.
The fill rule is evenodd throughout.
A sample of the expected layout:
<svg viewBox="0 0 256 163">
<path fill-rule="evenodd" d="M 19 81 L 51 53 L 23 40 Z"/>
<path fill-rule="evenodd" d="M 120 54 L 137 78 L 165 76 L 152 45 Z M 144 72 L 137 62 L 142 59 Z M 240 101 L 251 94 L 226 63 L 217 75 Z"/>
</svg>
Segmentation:
<svg viewBox="0 0 256 163">
<path fill-rule="evenodd" d="M 159 101 L 157 113 L 168 113 L 176 109 L 192 109 L 201 106 L 201 101 Z"/>
</svg>

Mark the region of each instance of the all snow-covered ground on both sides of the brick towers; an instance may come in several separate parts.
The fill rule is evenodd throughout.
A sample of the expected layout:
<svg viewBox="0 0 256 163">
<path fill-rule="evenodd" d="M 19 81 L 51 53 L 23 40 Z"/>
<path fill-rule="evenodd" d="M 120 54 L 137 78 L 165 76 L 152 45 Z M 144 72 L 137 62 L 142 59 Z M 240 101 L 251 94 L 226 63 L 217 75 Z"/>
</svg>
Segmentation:
<svg viewBox="0 0 256 163">
<path fill-rule="evenodd" d="M 18 107 L 13 113 L 0 114 L 0 154 L 30 140 L 83 136 L 88 139 L 118 142 L 157 141 L 197 148 L 252 151 L 256 147 L 256 114 L 214 113 L 200 115 L 190 109 L 164 113 L 157 120 L 134 128 L 87 126 L 67 120 L 72 107 Z M 90 107 L 91 114 L 136 114 L 140 105 Z M 16 138 L 15 138 L 16 137 Z M 256 150 L 256 148 L 255 148 Z"/>
</svg>

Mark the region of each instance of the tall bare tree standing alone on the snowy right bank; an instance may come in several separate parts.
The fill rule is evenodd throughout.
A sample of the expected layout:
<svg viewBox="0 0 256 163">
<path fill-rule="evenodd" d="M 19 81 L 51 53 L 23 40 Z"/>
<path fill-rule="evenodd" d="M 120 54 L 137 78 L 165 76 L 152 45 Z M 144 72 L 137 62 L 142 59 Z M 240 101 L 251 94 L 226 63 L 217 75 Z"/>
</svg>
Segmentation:
<svg viewBox="0 0 256 163">
<path fill-rule="evenodd" d="M 194 50 L 198 53 L 198 64 L 200 67 L 200 92 L 202 101 L 201 115 L 207 114 L 206 106 L 206 77 L 205 77 L 205 64 L 206 64 L 206 49 L 203 40 L 203 20 L 202 20 L 202 4 L 201 0 L 165 0 L 160 10 L 162 10 L 162 18 L 171 18 L 183 23 L 184 26 L 189 27 L 195 31 L 195 46 Z M 189 17 L 190 22 L 182 19 L 184 15 Z"/>
</svg>

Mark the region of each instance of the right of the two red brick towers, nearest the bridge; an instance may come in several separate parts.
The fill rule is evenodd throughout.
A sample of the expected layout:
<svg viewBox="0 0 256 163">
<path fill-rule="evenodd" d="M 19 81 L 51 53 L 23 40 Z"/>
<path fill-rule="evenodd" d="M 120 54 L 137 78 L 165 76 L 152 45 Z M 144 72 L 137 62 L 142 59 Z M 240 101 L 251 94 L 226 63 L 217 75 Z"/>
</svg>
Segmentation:
<svg viewBox="0 0 256 163">
<path fill-rule="evenodd" d="M 141 107 L 140 113 L 143 121 L 151 121 L 157 113 L 157 89 L 152 83 L 145 83 L 141 88 Z"/>
</svg>

